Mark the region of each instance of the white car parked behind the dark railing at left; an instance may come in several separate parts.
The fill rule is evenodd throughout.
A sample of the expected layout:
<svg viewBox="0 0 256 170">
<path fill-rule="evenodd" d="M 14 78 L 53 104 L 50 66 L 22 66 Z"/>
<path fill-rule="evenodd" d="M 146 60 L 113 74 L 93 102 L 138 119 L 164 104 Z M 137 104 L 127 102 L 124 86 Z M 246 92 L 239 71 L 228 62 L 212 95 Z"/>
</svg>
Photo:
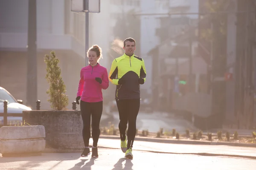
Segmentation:
<svg viewBox="0 0 256 170">
<path fill-rule="evenodd" d="M 6 89 L 0 87 L 0 113 L 3 113 L 3 102 L 7 100 L 7 113 L 20 113 L 20 117 L 7 116 L 7 125 L 21 125 L 22 111 L 31 111 L 31 108 L 22 105 L 22 100 L 16 100 Z M 3 126 L 3 116 L 0 116 L 0 126 Z"/>
</svg>

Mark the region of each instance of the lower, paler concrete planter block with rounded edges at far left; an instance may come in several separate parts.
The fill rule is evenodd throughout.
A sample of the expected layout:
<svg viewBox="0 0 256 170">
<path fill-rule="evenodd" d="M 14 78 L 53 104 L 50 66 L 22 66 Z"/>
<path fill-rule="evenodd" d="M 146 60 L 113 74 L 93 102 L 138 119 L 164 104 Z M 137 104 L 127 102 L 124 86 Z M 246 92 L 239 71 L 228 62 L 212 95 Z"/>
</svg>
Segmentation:
<svg viewBox="0 0 256 170">
<path fill-rule="evenodd" d="M 3 126 L 0 128 L 0 153 L 41 154 L 45 149 L 44 126 Z"/>
</svg>

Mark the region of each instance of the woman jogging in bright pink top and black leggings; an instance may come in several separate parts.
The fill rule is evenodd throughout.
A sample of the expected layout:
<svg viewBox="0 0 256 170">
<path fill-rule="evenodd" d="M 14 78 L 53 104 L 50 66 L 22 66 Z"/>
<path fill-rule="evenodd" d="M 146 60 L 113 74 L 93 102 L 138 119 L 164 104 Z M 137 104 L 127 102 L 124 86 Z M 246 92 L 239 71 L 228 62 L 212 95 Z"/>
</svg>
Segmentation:
<svg viewBox="0 0 256 170">
<path fill-rule="evenodd" d="M 92 137 L 93 148 L 92 157 L 98 157 L 98 140 L 99 140 L 99 123 L 102 116 L 103 97 L 102 89 L 108 88 L 108 72 L 105 67 L 99 65 L 99 59 L 102 58 L 102 50 L 98 45 L 93 45 L 87 51 L 89 65 L 82 68 L 80 72 L 80 81 L 76 97 L 76 103 L 79 105 L 81 99 L 81 116 L 83 120 L 83 139 L 84 151 L 81 156 L 90 155 L 89 139 L 90 133 L 90 120 L 92 118 Z"/>
</svg>

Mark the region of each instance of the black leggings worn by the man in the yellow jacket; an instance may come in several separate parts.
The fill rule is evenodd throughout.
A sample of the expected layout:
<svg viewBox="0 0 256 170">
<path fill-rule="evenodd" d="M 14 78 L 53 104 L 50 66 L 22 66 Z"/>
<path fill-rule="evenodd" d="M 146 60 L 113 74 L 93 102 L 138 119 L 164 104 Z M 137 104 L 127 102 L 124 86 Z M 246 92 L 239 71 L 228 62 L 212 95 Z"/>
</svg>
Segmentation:
<svg viewBox="0 0 256 170">
<path fill-rule="evenodd" d="M 140 110 L 140 99 L 121 99 L 116 100 L 119 111 L 119 131 L 122 141 L 125 140 L 125 130 L 128 123 L 127 131 L 127 148 L 132 147 L 136 135 L 136 120 Z"/>
</svg>

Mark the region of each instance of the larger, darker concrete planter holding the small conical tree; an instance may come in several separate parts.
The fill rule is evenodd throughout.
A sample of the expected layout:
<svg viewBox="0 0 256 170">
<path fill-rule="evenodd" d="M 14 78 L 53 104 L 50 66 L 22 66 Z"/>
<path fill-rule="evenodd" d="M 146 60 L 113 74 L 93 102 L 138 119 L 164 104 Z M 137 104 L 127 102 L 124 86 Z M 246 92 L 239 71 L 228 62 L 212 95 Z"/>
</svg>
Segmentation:
<svg viewBox="0 0 256 170">
<path fill-rule="evenodd" d="M 29 125 L 43 125 L 46 148 L 53 152 L 72 152 L 84 147 L 80 111 L 23 111 Z"/>
</svg>

